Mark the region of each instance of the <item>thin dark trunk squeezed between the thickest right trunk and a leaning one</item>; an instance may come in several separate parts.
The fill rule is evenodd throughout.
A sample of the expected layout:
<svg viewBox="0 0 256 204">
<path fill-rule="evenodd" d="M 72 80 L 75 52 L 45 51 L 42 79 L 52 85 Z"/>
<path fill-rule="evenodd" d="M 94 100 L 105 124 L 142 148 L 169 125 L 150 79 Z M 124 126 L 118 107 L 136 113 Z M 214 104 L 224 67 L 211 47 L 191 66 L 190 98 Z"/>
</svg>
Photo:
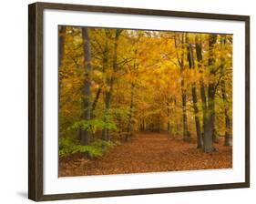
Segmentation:
<svg viewBox="0 0 256 204">
<path fill-rule="evenodd" d="M 201 42 L 198 36 L 196 36 L 196 54 L 197 54 L 197 60 L 198 60 L 198 66 L 200 73 L 203 72 L 202 70 L 202 46 Z M 202 103 L 202 129 L 204 130 L 205 128 L 205 123 L 206 123 L 206 111 L 207 111 L 207 97 L 206 97 L 206 92 L 205 92 L 205 85 L 203 82 L 203 79 L 200 79 L 200 97 L 201 97 L 201 103 Z M 202 136 L 202 145 L 203 145 L 203 140 L 204 140 L 204 132 L 201 132 Z"/>
</svg>

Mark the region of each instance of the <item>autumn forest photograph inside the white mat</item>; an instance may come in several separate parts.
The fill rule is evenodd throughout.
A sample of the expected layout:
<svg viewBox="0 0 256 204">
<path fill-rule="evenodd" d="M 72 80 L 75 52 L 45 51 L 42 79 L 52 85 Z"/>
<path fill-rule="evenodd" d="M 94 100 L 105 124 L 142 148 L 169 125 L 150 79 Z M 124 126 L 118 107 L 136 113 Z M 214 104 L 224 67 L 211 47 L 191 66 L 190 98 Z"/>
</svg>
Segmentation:
<svg viewBox="0 0 256 204">
<path fill-rule="evenodd" d="M 57 37 L 59 177 L 232 168 L 232 35 Z"/>
</svg>

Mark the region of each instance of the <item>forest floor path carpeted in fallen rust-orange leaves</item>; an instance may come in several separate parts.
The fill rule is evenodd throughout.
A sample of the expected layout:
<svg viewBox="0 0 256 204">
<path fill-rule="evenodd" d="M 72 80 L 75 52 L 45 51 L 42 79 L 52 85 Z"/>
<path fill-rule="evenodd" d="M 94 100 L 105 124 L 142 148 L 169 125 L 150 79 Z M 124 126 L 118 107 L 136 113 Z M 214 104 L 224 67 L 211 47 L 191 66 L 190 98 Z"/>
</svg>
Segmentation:
<svg viewBox="0 0 256 204">
<path fill-rule="evenodd" d="M 79 154 L 61 158 L 59 176 L 232 168 L 232 148 L 224 147 L 221 138 L 214 147 L 217 151 L 208 154 L 196 148 L 196 141 L 186 143 L 179 137 L 143 132 L 110 148 L 102 158 L 87 159 Z"/>
</svg>

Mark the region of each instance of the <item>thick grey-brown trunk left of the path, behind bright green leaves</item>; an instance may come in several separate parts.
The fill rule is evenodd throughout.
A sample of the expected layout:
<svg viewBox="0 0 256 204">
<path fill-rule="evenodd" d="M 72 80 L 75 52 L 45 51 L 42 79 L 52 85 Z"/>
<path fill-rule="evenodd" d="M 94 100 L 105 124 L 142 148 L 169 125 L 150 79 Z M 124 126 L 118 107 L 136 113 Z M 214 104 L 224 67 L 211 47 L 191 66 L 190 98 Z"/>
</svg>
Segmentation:
<svg viewBox="0 0 256 204">
<path fill-rule="evenodd" d="M 91 118 L 91 46 L 90 46 L 90 38 L 88 34 L 88 29 L 86 27 L 82 28 L 82 37 L 84 40 L 84 55 L 85 55 L 85 82 L 83 87 L 83 114 L 82 117 L 85 120 L 89 120 Z M 81 141 L 82 145 L 88 145 L 90 139 L 90 131 L 88 129 L 81 129 Z"/>
</svg>

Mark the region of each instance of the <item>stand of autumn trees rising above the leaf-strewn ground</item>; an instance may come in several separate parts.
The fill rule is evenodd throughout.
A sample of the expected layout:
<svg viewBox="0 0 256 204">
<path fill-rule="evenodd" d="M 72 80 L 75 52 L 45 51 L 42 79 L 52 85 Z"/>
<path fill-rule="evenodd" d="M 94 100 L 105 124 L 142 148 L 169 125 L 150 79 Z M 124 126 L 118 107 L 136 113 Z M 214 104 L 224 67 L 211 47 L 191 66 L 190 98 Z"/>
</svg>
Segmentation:
<svg viewBox="0 0 256 204">
<path fill-rule="evenodd" d="M 214 137 L 231 145 L 231 35 L 58 31 L 60 147 L 95 153 L 140 131 L 182 138 L 209 153 Z"/>
</svg>

